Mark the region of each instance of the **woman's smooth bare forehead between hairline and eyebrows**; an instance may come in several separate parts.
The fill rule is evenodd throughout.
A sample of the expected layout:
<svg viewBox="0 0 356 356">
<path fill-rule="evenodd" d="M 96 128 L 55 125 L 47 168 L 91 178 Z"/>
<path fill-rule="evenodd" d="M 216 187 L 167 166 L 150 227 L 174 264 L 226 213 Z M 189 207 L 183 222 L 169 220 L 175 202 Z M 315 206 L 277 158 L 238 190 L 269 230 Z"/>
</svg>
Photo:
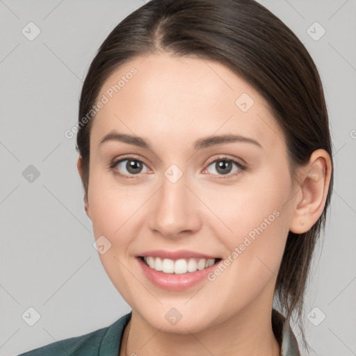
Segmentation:
<svg viewBox="0 0 356 356">
<path fill-rule="evenodd" d="M 104 97 L 90 135 L 95 142 L 112 129 L 159 137 L 244 133 L 264 147 L 283 136 L 257 90 L 217 61 L 163 53 L 133 58 L 106 80 L 98 98 Z"/>
</svg>

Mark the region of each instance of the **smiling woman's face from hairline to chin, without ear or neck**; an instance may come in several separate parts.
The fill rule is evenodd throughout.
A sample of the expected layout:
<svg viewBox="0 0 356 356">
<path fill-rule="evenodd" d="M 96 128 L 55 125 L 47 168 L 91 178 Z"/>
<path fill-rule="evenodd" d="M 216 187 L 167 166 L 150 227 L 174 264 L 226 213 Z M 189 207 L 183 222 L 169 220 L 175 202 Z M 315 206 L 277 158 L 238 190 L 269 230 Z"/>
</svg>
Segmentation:
<svg viewBox="0 0 356 356">
<path fill-rule="evenodd" d="M 168 54 L 120 67 L 99 99 L 87 213 L 106 273 L 133 312 L 163 330 L 197 332 L 272 305 L 293 186 L 284 135 L 264 99 L 221 63 Z M 139 258 L 152 250 L 221 261 L 152 274 Z M 166 322 L 173 314 L 182 316 L 177 325 Z"/>
</svg>

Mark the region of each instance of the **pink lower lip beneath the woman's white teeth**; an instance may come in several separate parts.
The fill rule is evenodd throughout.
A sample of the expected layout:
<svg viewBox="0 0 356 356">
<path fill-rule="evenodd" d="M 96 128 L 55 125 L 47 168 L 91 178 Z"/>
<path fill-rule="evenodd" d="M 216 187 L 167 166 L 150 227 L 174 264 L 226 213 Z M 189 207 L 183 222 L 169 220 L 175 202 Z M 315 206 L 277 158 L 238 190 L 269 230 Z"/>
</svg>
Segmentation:
<svg viewBox="0 0 356 356">
<path fill-rule="evenodd" d="M 159 286 L 163 289 L 169 289 L 170 291 L 188 289 L 203 280 L 207 280 L 207 275 L 211 273 L 220 262 L 217 261 L 213 264 L 213 266 L 204 268 L 203 270 L 196 270 L 195 272 L 187 272 L 181 275 L 176 275 L 175 273 L 164 273 L 159 270 L 154 270 L 153 268 L 147 266 L 147 264 L 145 264 L 140 257 L 137 257 L 137 259 L 149 281 L 151 281 L 155 286 Z"/>
</svg>

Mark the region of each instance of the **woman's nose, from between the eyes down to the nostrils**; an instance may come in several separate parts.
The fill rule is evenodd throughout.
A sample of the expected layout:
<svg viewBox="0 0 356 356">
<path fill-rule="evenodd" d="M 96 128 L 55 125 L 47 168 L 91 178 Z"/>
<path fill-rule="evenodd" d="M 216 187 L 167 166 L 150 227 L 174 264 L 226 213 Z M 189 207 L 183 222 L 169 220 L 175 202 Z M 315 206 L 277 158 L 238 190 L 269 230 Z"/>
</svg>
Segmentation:
<svg viewBox="0 0 356 356">
<path fill-rule="evenodd" d="M 152 201 L 153 207 L 149 218 L 152 231 L 166 238 L 179 238 L 194 234 L 201 225 L 199 199 L 186 185 L 183 175 L 172 183 L 166 177 Z"/>
</svg>

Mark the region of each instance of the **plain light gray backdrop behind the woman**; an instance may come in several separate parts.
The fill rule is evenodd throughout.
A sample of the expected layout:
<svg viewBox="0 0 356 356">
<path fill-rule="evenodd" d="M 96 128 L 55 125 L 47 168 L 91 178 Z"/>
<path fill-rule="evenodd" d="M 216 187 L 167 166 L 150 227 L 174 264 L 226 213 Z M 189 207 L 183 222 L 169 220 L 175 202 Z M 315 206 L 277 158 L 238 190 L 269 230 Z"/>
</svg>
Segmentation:
<svg viewBox="0 0 356 356">
<path fill-rule="evenodd" d="M 307 339 L 312 355 L 356 355 L 356 1 L 259 2 L 314 58 L 331 120 L 335 186 L 307 293 Z M 130 311 L 92 246 L 75 138 L 64 132 L 77 121 L 99 44 L 142 5 L 0 0 L 0 355 L 86 334 Z M 22 33 L 29 22 L 41 31 L 32 41 Z M 326 30 L 318 40 L 322 29 L 314 22 Z M 40 314 L 33 326 L 29 307 Z"/>
</svg>

